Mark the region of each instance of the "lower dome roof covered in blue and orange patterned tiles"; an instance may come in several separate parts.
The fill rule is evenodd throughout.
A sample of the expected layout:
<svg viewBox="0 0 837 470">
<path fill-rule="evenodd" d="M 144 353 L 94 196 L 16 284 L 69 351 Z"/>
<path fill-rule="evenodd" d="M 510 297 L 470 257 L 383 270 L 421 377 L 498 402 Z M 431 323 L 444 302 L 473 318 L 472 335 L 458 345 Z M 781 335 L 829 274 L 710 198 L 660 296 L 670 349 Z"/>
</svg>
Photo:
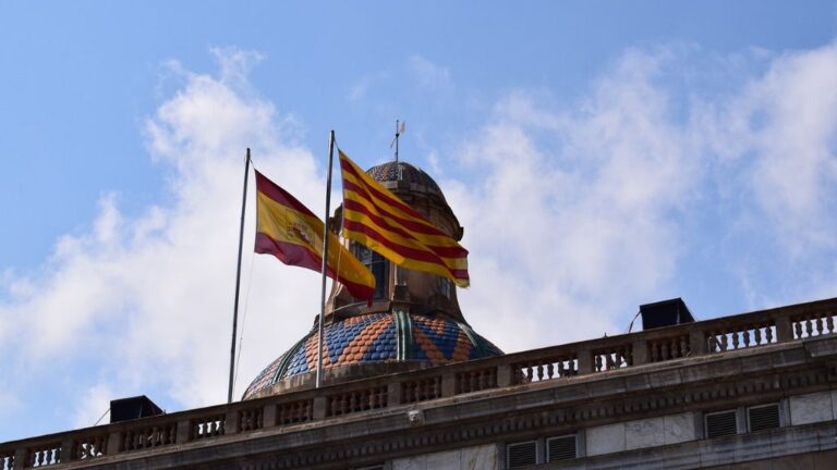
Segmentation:
<svg viewBox="0 0 837 470">
<path fill-rule="evenodd" d="M 324 327 L 324 371 L 349 364 L 413 362 L 440 366 L 501 356 L 502 351 L 464 323 L 441 314 L 366 313 L 335 319 Z M 243 399 L 284 379 L 316 370 L 317 329 L 256 376 Z"/>
</svg>

